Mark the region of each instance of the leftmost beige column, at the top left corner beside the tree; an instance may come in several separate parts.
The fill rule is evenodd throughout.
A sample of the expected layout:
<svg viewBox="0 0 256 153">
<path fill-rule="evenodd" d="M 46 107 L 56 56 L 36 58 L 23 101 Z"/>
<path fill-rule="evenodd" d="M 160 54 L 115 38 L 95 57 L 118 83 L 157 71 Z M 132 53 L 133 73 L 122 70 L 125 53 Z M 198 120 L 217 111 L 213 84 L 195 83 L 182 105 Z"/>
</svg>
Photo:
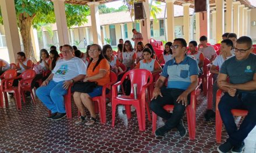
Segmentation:
<svg viewBox="0 0 256 153">
<path fill-rule="evenodd" d="M 17 17 L 15 12 L 14 1 L 0 1 L 3 27 L 5 28 L 5 38 L 9 52 L 10 63 L 16 63 L 17 52 L 22 51 L 20 46 L 19 31 L 17 27 Z"/>
</svg>

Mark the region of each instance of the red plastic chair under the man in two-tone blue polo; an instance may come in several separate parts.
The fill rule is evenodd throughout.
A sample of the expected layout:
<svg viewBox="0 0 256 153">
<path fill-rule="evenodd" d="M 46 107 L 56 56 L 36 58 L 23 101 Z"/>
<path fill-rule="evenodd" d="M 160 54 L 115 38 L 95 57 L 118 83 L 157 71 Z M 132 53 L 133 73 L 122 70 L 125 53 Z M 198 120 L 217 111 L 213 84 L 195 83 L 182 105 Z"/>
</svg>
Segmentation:
<svg viewBox="0 0 256 153">
<path fill-rule="evenodd" d="M 198 86 L 195 90 L 198 89 Z M 197 103 L 197 97 L 195 96 L 195 90 L 190 94 L 190 104 L 186 108 L 187 125 L 189 129 L 190 140 L 195 139 L 195 106 Z M 174 105 L 165 105 L 163 109 L 166 111 L 173 111 Z M 155 133 L 157 129 L 157 114 L 152 112 L 152 133 Z"/>
</svg>

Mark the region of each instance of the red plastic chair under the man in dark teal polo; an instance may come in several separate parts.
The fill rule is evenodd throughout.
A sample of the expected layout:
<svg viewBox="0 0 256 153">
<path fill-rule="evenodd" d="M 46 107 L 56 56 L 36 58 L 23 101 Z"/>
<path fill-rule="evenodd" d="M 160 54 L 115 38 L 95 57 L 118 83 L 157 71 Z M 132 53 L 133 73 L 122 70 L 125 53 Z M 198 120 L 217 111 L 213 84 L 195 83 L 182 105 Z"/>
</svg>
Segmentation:
<svg viewBox="0 0 256 153">
<path fill-rule="evenodd" d="M 222 90 L 218 89 L 216 94 L 216 119 L 215 119 L 215 126 L 216 126 L 216 142 L 221 143 L 221 133 L 222 133 L 222 119 L 221 114 L 219 114 L 219 101 L 221 100 Z M 233 116 L 246 116 L 248 114 L 247 110 L 240 110 L 240 109 L 233 109 L 231 110 Z"/>
</svg>

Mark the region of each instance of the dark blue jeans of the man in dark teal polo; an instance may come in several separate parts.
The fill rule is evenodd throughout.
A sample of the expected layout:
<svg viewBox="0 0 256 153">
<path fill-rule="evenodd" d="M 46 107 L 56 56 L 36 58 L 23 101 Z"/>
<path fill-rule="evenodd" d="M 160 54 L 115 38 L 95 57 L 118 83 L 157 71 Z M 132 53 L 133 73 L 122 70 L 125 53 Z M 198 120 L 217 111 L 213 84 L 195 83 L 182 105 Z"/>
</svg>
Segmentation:
<svg viewBox="0 0 256 153">
<path fill-rule="evenodd" d="M 228 93 L 222 96 L 218 108 L 221 114 L 221 119 L 225 125 L 227 134 L 229 134 L 229 141 L 233 145 L 239 145 L 246 139 L 248 133 L 253 130 L 256 125 L 256 93 L 241 92 L 236 96 L 231 97 Z M 232 115 L 232 109 L 246 109 L 247 116 L 244 118 L 237 129 L 236 123 Z"/>
</svg>

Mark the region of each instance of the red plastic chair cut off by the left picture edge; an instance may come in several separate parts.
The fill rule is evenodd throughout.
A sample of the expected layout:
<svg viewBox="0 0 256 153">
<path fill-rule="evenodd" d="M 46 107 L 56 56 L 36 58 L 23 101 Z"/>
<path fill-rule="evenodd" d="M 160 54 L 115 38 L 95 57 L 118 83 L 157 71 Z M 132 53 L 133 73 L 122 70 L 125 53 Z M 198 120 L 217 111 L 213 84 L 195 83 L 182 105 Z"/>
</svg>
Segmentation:
<svg viewBox="0 0 256 153">
<path fill-rule="evenodd" d="M 10 79 L 17 77 L 17 71 L 10 69 L 3 72 L 3 74 L 0 76 L 1 79 L 1 88 L 0 88 L 0 107 L 3 107 L 3 82 L 4 79 Z M 8 82 L 8 85 L 12 85 L 13 81 Z M 5 107 L 8 107 L 8 101 L 5 100 Z"/>
</svg>

